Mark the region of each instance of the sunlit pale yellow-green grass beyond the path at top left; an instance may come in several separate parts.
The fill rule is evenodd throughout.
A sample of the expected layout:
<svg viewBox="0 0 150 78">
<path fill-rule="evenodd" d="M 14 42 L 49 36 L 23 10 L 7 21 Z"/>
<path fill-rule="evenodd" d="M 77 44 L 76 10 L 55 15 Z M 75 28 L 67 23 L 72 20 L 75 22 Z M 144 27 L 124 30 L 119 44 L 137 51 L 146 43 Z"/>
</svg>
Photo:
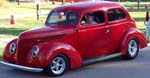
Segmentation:
<svg viewBox="0 0 150 78">
<path fill-rule="evenodd" d="M 0 15 L 12 15 L 12 14 L 25 14 L 25 13 L 36 13 L 36 4 L 35 3 L 21 3 L 19 6 L 17 3 L 12 2 L 0 2 Z M 56 6 L 60 6 L 60 3 L 55 5 L 50 4 L 41 4 L 41 12 L 49 12 Z"/>
</svg>

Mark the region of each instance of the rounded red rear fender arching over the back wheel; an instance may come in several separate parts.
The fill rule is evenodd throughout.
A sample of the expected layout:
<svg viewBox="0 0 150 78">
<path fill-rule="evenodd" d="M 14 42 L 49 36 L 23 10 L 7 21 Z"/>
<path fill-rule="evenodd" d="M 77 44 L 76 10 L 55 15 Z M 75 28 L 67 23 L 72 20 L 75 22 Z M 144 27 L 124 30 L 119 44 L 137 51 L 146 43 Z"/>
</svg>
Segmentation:
<svg viewBox="0 0 150 78">
<path fill-rule="evenodd" d="M 144 48 L 147 46 L 147 41 L 146 37 L 144 34 L 136 29 L 136 28 L 130 28 L 126 31 L 122 38 L 122 43 L 121 43 L 121 51 L 123 55 L 126 55 L 126 50 L 127 50 L 127 45 L 130 39 L 136 38 L 140 44 L 140 48 Z"/>
</svg>

